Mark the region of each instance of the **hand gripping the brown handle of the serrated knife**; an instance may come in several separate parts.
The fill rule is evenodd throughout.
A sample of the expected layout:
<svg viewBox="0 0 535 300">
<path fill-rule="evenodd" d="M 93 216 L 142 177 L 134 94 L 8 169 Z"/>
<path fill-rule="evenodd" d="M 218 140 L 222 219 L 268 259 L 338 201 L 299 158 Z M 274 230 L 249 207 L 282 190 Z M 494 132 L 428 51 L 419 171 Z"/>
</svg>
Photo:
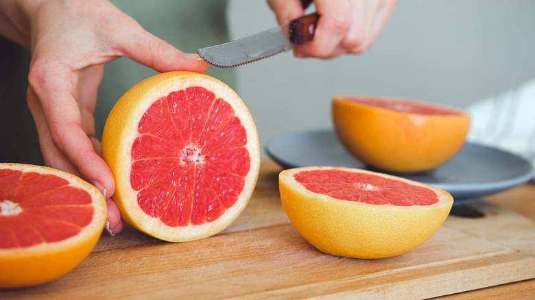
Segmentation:
<svg viewBox="0 0 535 300">
<path fill-rule="evenodd" d="M 304 14 L 302 0 L 268 0 L 278 23 Z M 311 42 L 296 45 L 297 57 L 335 58 L 364 53 L 383 31 L 396 0 L 314 0 L 320 14 Z"/>
</svg>

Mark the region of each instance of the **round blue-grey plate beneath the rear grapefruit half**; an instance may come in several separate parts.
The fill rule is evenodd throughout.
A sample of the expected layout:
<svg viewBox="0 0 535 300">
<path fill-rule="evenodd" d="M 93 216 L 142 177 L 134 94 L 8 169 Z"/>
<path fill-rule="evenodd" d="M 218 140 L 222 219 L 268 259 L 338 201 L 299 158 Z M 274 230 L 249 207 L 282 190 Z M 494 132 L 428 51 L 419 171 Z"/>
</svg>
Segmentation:
<svg viewBox="0 0 535 300">
<path fill-rule="evenodd" d="M 267 143 L 266 151 L 283 168 L 347 166 L 378 171 L 348 154 L 331 129 L 278 136 Z M 455 199 L 454 205 L 477 201 L 484 195 L 523 184 L 534 176 L 532 164 L 524 158 L 471 142 L 466 142 L 455 157 L 435 170 L 390 174 L 446 190 Z"/>
</svg>

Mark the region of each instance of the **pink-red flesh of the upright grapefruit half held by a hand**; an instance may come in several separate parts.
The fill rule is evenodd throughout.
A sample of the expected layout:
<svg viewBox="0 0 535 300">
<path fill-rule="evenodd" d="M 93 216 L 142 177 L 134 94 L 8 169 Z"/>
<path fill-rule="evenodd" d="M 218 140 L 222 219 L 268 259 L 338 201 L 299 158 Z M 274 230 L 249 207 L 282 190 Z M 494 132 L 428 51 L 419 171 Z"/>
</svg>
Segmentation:
<svg viewBox="0 0 535 300">
<path fill-rule="evenodd" d="M 223 99 L 202 87 L 171 92 L 150 106 L 138 131 L 130 182 L 145 214 L 171 227 L 200 225 L 235 203 L 249 153 L 245 129 Z"/>
</svg>

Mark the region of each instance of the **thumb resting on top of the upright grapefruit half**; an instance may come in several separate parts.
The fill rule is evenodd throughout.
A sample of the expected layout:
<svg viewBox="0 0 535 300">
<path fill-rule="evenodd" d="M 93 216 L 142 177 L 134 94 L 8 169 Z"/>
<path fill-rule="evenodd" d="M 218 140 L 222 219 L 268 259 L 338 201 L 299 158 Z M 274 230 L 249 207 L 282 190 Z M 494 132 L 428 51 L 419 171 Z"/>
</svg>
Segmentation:
<svg viewBox="0 0 535 300">
<path fill-rule="evenodd" d="M 160 38 L 146 32 L 140 25 L 124 27 L 115 40 L 122 55 L 158 72 L 194 71 L 204 73 L 209 64 L 197 53 L 184 53 Z"/>
</svg>

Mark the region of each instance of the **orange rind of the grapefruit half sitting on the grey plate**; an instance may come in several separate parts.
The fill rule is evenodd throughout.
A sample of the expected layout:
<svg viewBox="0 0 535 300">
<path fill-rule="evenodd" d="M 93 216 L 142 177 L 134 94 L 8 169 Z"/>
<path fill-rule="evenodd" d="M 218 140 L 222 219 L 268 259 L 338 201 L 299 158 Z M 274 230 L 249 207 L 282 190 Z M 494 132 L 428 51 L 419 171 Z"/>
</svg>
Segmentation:
<svg viewBox="0 0 535 300">
<path fill-rule="evenodd" d="M 436 168 L 461 149 L 470 127 L 470 115 L 415 114 L 347 101 L 350 98 L 407 99 L 388 97 L 333 97 L 332 114 L 340 142 L 355 158 L 383 171 L 416 173 Z"/>
</svg>

